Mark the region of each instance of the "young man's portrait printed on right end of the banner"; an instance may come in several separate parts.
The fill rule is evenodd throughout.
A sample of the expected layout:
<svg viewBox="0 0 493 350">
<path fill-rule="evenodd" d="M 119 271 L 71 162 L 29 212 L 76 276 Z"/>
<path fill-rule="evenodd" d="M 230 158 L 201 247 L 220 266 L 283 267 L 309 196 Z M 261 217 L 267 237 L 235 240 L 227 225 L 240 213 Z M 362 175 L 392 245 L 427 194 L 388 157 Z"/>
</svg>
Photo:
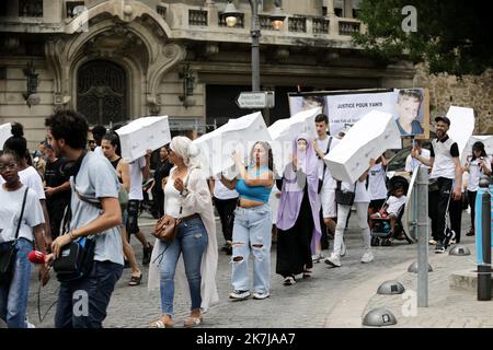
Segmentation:
<svg viewBox="0 0 493 350">
<path fill-rule="evenodd" d="M 395 110 L 398 112 L 395 122 L 399 131 L 401 131 L 401 136 L 421 135 L 424 132 L 417 120 L 422 102 L 423 94 L 417 89 L 399 91 L 395 105 Z"/>
</svg>

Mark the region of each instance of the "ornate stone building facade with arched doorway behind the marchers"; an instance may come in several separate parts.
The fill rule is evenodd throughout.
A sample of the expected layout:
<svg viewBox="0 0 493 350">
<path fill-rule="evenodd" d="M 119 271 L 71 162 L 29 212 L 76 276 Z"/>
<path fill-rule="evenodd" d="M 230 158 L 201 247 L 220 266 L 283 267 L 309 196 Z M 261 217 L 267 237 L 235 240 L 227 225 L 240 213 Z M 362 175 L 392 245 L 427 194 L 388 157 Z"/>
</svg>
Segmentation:
<svg viewBox="0 0 493 350">
<path fill-rule="evenodd" d="M 226 0 L 5 0 L 0 5 L 0 124 L 20 121 L 33 147 L 44 118 L 76 108 L 92 125 L 169 115 L 173 128 L 220 125 L 249 110 L 234 103 L 251 89 L 251 8 L 236 27 Z M 364 31 L 357 0 L 259 1 L 261 89 L 276 92 L 271 121 L 287 117 L 287 93 L 408 88 L 414 67 L 378 66 L 351 42 Z"/>
</svg>

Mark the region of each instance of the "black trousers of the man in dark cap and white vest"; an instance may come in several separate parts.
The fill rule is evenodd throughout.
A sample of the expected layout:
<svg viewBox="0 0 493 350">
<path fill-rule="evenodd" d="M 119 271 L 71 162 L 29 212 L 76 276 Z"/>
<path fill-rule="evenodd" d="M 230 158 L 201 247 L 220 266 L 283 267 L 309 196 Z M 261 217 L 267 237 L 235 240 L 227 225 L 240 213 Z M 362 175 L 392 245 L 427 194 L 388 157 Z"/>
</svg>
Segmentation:
<svg viewBox="0 0 493 350">
<path fill-rule="evenodd" d="M 450 200 L 452 182 L 451 178 L 438 177 L 438 189 L 431 191 L 428 195 L 428 217 L 432 219 L 432 235 L 437 242 L 442 242 L 445 238 L 445 215 L 447 214 L 447 203 Z M 460 203 L 460 201 L 458 202 Z"/>
</svg>

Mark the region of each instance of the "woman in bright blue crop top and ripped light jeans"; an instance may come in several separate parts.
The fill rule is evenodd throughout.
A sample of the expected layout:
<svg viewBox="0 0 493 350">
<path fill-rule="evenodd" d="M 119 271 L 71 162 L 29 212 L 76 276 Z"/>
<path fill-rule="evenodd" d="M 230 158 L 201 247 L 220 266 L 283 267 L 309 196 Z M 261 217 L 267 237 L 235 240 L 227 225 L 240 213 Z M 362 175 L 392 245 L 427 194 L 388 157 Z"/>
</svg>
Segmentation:
<svg viewBox="0 0 493 350">
<path fill-rule="evenodd" d="M 245 166 L 233 152 L 234 165 L 240 174 L 232 180 L 221 177 L 222 184 L 240 195 L 234 211 L 232 234 L 232 285 L 230 299 L 250 296 L 249 256 L 253 255 L 253 299 L 268 298 L 271 288 L 271 207 L 268 197 L 274 185 L 274 161 L 271 145 L 256 142 Z"/>
</svg>

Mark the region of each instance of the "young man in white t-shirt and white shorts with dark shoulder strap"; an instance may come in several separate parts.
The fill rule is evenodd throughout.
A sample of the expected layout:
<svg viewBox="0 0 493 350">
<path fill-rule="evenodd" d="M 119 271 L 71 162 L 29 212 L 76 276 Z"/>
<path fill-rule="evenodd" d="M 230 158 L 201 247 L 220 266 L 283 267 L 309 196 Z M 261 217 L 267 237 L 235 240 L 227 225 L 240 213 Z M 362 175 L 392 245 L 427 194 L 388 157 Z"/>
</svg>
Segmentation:
<svg viewBox="0 0 493 350">
<path fill-rule="evenodd" d="M 317 139 L 313 141 L 313 149 L 319 158 L 319 179 L 321 182 L 320 199 L 322 202 L 322 249 L 329 248 L 328 228 L 330 233 L 335 233 L 335 219 L 337 218 L 335 205 L 335 184 L 332 174 L 325 164 L 323 158 L 340 142 L 337 138 L 328 135 L 329 118 L 326 115 L 319 114 L 316 117 Z"/>
</svg>

